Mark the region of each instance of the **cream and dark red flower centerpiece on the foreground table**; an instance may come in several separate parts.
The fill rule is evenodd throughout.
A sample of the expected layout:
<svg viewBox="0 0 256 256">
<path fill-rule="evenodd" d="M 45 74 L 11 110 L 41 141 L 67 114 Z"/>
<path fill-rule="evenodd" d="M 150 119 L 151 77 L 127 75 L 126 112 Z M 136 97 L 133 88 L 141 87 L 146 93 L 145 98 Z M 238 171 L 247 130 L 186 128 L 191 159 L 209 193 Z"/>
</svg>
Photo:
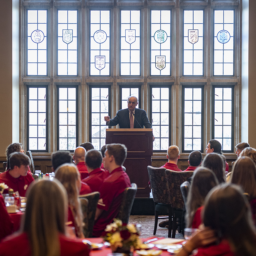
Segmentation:
<svg viewBox="0 0 256 256">
<path fill-rule="evenodd" d="M 110 243 L 113 252 L 130 255 L 131 248 L 136 249 L 141 245 L 139 230 L 134 224 L 122 223 L 121 220 L 114 219 L 114 222 L 107 225 L 102 237 Z"/>
</svg>

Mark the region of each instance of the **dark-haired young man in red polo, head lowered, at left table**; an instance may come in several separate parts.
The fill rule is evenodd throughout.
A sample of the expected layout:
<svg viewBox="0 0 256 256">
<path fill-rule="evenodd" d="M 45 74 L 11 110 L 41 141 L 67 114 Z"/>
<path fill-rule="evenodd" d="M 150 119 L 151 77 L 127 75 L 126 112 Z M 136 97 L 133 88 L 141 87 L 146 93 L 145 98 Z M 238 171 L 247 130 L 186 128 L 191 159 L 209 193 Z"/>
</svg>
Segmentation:
<svg viewBox="0 0 256 256">
<path fill-rule="evenodd" d="M 19 192 L 20 196 L 25 196 L 30 183 L 34 180 L 28 173 L 30 158 L 21 152 L 14 152 L 9 156 L 10 169 L 0 174 L 0 183 L 5 183 L 14 192 Z M 4 190 L 8 193 L 8 190 Z"/>
</svg>

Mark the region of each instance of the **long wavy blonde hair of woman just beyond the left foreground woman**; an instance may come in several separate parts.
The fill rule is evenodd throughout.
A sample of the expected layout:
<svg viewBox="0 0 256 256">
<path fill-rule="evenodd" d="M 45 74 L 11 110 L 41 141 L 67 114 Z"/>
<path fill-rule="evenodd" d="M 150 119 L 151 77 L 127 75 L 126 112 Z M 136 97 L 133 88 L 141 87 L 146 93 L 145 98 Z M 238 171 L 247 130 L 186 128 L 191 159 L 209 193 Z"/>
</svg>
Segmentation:
<svg viewBox="0 0 256 256">
<path fill-rule="evenodd" d="M 83 237 L 82 232 L 82 210 L 79 200 L 79 190 L 76 182 L 79 178 L 79 171 L 74 164 L 63 164 L 55 171 L 55 178 L 58 179 L 65 187 L 68 194 L 68 204 L 75 220 L 75 228 L 78 237 Z"/>
</svg>

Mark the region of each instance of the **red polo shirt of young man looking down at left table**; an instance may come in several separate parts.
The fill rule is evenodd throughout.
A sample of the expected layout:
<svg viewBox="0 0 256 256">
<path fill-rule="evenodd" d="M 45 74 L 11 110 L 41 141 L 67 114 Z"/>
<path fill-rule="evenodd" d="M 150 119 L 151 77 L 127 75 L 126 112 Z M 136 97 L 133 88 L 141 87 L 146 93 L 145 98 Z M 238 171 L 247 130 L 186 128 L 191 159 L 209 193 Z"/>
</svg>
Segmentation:
<svg viewBox="0 0 256 256">
<path fill-rule="evenodd" d="M 18 191 L 20 196 L 25 196 L 28 186 L 32 181 L 34 181 L 34 178 L 30 173 L 27 173 L 26 176 L 20 175 L 18 178 L 13 178 L 9 171 L 0 174 L 0 183 L 4 182 L 14 192 Z M 8 189 L 5 189 L 4 193 L 8 193 Z"/>
</svg>

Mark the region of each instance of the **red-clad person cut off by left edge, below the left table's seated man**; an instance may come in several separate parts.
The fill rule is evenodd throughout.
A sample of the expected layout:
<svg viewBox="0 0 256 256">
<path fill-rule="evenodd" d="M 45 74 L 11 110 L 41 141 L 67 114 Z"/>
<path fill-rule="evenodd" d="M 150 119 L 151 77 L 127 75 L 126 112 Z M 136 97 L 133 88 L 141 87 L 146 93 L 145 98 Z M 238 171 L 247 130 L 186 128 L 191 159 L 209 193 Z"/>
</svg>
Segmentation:
<svg viewBox="0 0 256 256">
<path fill-rule="evenodd" d="M 13 232 L 13 222 L 6 211 L 2 195 L 0 195 L 0 230 L 0 241 Z"/>
</svg>

